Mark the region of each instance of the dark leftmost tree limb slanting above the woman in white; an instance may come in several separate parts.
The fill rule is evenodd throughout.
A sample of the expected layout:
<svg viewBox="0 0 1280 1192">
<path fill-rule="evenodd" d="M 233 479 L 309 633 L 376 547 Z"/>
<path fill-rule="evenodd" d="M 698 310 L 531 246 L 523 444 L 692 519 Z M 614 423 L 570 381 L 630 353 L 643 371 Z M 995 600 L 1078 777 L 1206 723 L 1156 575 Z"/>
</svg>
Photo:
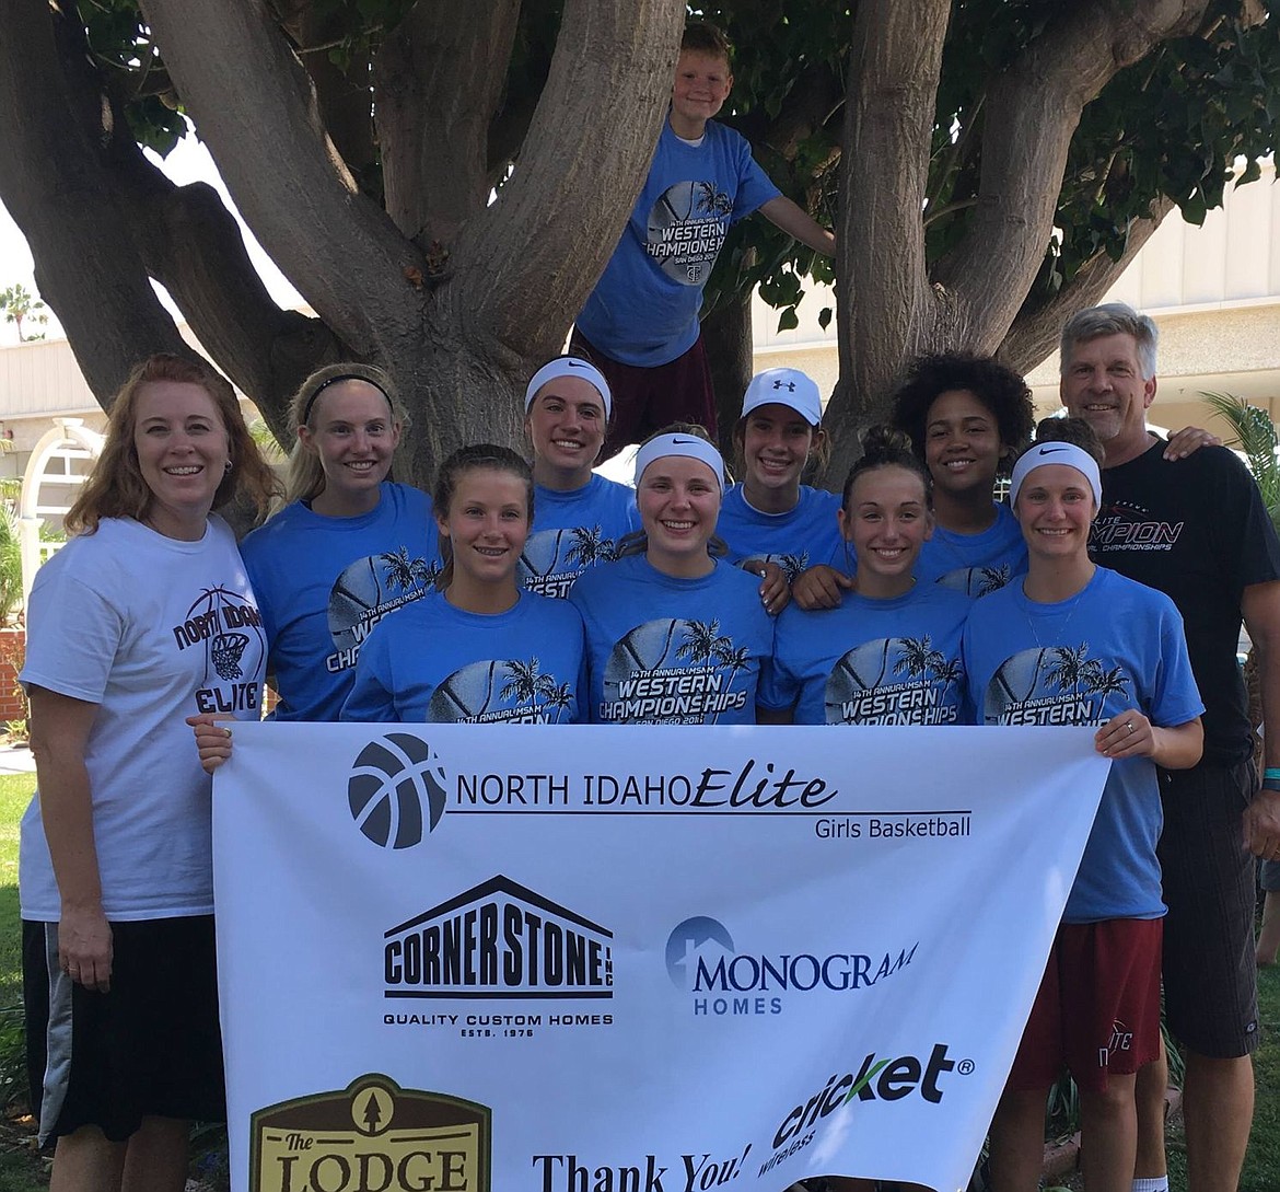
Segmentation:
<svg viewBox="0 0 1280 1192">
<path fill-rule="evenodd" d="M 101 145 L 111 110 L 74 9 L 14 0 L 5 12 L 0 197 L 31 246 L 41 296 L 106 406 L 145 356 L 195 353 L 151 288 L 106 175 Z"/>
</svg>

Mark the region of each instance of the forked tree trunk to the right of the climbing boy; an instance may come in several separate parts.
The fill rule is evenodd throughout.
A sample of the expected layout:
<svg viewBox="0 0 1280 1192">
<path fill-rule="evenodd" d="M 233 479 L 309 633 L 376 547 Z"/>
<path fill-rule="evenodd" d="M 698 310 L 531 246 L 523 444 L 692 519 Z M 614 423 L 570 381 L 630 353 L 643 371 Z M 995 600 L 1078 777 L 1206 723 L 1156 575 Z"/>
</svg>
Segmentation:
<svg viewBox="0 0 1280 1192">
<path fill-rule="evenodd" d="M 838 230 L 841 379 L 828 412 L 833 475 L 856 457 L 858 430 L 883 415 L 913 356 L 1000 347 L 1043 261 L 1084 105 L 1117 70 L 1194 29 L 1206 8 L 1207 0 L 1057 6 L 991 82 L 978 201 L 960 241 L 927 269 L 923 213 L 950 3 L 858 5 Z M 1100 265 L 1096 280 L 1106 273 Z M 1043 337 L 1048 318 L 1036 334 Z"/>
</svg>

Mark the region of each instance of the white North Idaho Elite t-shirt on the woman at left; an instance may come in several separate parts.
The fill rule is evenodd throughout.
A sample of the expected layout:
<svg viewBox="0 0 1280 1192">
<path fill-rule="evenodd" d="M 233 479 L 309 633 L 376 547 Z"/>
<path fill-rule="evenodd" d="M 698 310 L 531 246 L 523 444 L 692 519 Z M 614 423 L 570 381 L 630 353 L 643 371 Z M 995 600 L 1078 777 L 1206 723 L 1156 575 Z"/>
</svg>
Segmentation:
<svg viewBox="0 0 1280 1192">
<path fill-rule="evenodd" d="M 99 705 L 84 761 L 108 919 L 211 914 L 211 781 L 191 729 L 196 712 L 256 720 L 265 638 L 221 519 L 178 542 L 108 519 L 36 576 L 24 686 Z M 61 918 L 40 818 L 22 821 L 22 917 Z"/>
</svg>

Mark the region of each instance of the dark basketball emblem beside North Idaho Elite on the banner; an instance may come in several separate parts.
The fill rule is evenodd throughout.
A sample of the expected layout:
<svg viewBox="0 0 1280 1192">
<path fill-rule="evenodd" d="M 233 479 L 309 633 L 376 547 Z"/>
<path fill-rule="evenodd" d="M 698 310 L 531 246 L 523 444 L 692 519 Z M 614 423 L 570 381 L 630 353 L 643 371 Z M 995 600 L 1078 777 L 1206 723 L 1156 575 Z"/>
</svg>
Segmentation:
<svg viewBox="0 0 1280 1192">
<path fill-rule="evenodd" d="M 351 816 L 380 848 L 411 849 L 440 822 L 447 781 L 426 741 L 411 732 L 388 732 L 356 758 L 347 782 Z"/>
</svg>

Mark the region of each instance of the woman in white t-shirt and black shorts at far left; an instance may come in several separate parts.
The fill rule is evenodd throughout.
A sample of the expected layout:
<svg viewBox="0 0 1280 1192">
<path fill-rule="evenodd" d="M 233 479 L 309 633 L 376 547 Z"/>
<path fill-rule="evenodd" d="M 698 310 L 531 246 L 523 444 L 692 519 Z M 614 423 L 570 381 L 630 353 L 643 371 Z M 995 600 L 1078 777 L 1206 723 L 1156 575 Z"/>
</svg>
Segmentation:
<svg viewBox="0 0 1280 1192">
<path fill-rule="evenodd" d="M 37 794 L 19 891 L 32 1100 L 52 1187 L 180 1189 L 192 1119 L 224 1113 L 210 784 L 184 718 L 256 718 L 266 656 L 230 528 L 274 489 L 236 393 L 152 356 L 36 576 Z"/>
</svg>

